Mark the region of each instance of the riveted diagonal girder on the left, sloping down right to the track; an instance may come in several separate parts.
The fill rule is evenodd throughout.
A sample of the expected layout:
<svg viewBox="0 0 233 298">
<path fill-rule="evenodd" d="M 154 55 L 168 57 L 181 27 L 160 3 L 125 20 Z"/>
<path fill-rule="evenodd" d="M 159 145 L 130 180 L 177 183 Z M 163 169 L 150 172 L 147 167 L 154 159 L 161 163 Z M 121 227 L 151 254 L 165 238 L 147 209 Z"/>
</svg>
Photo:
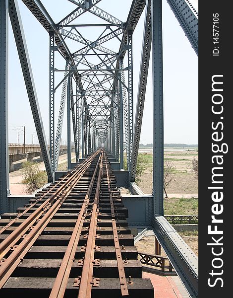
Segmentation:
<svg viewBox="0 0 233 298">
<path fill-rule="evenodd" d="M 46 135 L 42 123 L 40 108 L 38 104 L 36 88 L 33 80 L 32 69 L 30 65 L 29 55 L 27 51 L 25 36 L 23 32 L 21 17 L 19 13 L 18 3 L 15 0 L 9 0 L 9 16 L 14 33 L 15 43 L 18 50 L 19 60 L 23 72 L 23 77 L 28 93 L 28 98 L 32 110 L 33 120 L 35 123 L 41 152 L 45 162 L 45 168 L 48 175 L 48 181 L 53 181 L 53 173 L 51 171 L 51 160 L 49 149 L 47 146 Z"/>
</svg>

